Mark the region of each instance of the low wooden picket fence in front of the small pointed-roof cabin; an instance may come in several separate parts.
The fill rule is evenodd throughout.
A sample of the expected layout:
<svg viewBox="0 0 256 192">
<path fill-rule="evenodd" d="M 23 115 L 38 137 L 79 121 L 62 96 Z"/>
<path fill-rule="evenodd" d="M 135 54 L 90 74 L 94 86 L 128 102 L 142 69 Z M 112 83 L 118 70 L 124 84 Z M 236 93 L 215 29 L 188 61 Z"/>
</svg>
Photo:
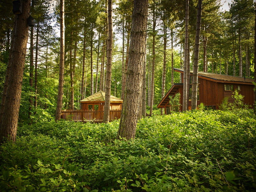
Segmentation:
<svg viewBox="0 0 256 192">
<path fill-rule="evenodd" d="M 120 119 L 121 111 L 122 110 L 110 110 L 109 121 Z M 103 113 L 104 111 L 99 110 L 62 110 L 60 118 L 76 122 L 101 123 L 103 120 Z"/>
</svg>

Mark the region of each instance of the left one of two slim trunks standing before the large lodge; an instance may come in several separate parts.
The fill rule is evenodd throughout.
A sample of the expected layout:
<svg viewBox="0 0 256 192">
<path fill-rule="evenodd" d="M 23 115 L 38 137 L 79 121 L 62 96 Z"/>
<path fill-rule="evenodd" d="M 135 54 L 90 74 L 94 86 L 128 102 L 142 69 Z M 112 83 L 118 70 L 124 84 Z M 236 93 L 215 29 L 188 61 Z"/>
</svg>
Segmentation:
<svg viewBox="0 0 256 192">
<path fill-rule="evenodd" d="M 188 7 L 189 0 L 186 0 L 186 16 L 185 16 L 185 43 L 184 43 L 184 72 L 183 72 L 183 102 L 182 102 L 182 111 L 187 110 L 187 99 L 188 99 Z"/>
</svg>

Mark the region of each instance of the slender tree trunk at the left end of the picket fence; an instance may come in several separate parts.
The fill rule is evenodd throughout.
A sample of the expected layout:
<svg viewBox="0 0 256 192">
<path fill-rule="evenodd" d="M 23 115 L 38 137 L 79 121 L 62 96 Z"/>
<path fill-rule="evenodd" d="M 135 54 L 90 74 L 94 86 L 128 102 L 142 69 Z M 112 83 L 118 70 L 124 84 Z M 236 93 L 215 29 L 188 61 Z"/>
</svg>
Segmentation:
<svg viewBox="0 0 256 192">
<path fill-rule="evenodd" d="M 60 72 L 58 85 L 58 99 L 56 107 L 55 121 L 60 120 L 62 99 L 63 99 L 63 84 L 64 84 L 64 51 L 65 51 L 65 22 L 64 22 L 64 0 L 60 0 Z"/>
</svg>

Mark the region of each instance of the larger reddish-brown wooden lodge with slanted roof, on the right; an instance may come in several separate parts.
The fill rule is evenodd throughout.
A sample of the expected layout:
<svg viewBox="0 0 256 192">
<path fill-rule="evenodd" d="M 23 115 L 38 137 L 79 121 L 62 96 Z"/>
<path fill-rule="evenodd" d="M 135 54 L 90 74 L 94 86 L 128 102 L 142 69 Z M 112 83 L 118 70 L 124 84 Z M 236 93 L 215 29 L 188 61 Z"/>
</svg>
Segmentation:
<svg viewBox="0 0 256 192">
<path fill-rule="evenodd" d="M 180 72 L 183 81 L 183 69 L 175 68 L 174 71 Z M 193 71 L 190 71 L 190 89 L 192 87 Z M 239 94 L 244 95 L 244 103 L 253 106 L 254 103 L 254 80 L 245 77 L 228 76 L 215 73 L 198 72 L 198 93 L 197 106 L 204 103 L 204 106 L 213 109 L 219 109 L 225 97 L 228 97 L 228 102 L 233 102 L 232 95 L 237 90 Z M 170 99 L 176 93 L 180 93 L 180 104 L 183 102 L 183 83 L 174 84 L 171 89 L 165 94 L 164 98 L 157 105 L 157 108 L 164 108 L 164 113 L 169 114 Z M 191 91 L 189 95 L 188 108 L 191 109 Z M 182 107 L 180 105 L 180 111 Z"/>
</svg>

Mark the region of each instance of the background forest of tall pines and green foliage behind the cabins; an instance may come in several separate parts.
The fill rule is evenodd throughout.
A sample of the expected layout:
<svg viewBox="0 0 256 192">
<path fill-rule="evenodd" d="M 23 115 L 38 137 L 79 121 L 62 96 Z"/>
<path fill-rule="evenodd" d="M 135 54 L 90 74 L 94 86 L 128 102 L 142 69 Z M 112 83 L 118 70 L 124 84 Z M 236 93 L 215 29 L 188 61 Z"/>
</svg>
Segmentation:
<svg viewBox="0 0 256 192">
<path fill-rule="evenodd" d="M 254 4 L 252 0 L 235 0 L 229 6 L 228 11 L 223 11 L 220 1 L 203 1 L 198 70 L 253 78 Z M 111 95 L 121 99 L 128 64 L 132 7 L 130 0 L 113 1 Z M 2 96 L 14 14 L 9 1 L 1 1 L 0 8 L 3 13 L 0 34 Z M 189 1 L 191 63 L 194 59 L 196 8 L 197 1 Z M 57 105 L 60 5 L 56 1 L 32 0 L 30 12 L 34 27 L 29 27 L 28 31 L 19 123 L 54 119 Z M 149 1 L 145 58 L 145 94 L 149 107 L 159 103 L 163 86 L 165 93 L 173 83 L 180 82 L 179 73 L 173 73 L 173 68 L 183 68 L 184 28 L 185 1 Z M 106 34 L 107 1 L 65 1 L 63 109 L 79 109 L 80 100 L 99 90 L 105 91 Z M 192 64 L 190 68 L 192 70 Z"/>
</svg>

